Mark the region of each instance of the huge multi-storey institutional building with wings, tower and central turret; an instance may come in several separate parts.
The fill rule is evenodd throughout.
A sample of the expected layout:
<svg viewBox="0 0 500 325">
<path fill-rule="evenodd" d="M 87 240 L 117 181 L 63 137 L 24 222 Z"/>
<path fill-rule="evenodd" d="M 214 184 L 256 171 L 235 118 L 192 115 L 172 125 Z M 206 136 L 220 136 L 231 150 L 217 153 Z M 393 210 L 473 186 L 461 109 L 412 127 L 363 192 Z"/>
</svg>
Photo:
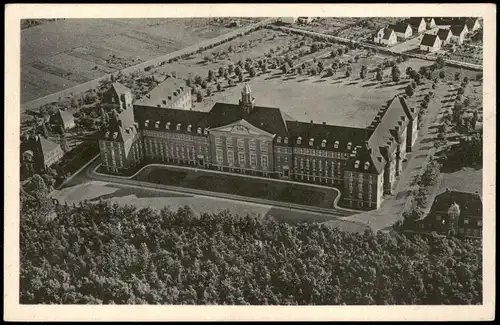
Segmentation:
<svg viewBox="0 0 500 325">
<path fill-rule="evenodd" d="M 395 96 L 366 128 L 296 121 L 258 106 L 249 85 L 239 103 L 191 109 L 191 88 L 173 77 L 132 104 L 131 91 L 113 84 L 99 146 L 104 168 L 125 174 L 146 163 L 288 179 L 333 186 L 342 203 L 376 209 L 392 192 L 406 152 L 417 137 L 418 114 Z"/>
</svg>

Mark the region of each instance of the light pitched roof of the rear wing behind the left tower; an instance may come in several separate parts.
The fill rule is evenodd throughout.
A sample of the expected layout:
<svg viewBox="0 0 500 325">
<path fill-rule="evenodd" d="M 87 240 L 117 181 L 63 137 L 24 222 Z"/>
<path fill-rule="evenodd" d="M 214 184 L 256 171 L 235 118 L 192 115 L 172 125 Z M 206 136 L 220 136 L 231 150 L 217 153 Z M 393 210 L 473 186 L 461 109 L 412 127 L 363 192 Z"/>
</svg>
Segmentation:
<svg viewBox="0 0 500 325">
<path fill-rule="evenodd" d="M 191 91 L 191 88 L 186 85 L 186 81 L 170 76 L 136 103 L 142 106 L 169 107 L 187 91 Z"/>
</svg>

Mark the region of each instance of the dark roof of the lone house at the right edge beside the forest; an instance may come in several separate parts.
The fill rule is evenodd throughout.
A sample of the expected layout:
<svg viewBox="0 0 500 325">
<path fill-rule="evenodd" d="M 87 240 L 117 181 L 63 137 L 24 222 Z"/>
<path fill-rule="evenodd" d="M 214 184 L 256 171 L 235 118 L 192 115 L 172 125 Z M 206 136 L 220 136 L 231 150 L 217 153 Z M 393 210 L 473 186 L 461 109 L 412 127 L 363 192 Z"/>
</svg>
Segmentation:
<svg viewBox="0 0 500 325">
<path fill-rule="evenodd" d="M 447 211 L 453 204 L 460 207 L 460 214 L 471 214 L 482 216 L 483 203 L 479 193 L 469 193 L 453 190 L 445 190 L 437 195 L 432 203 L 431 213 L 435 211 Z"/>
</svg>

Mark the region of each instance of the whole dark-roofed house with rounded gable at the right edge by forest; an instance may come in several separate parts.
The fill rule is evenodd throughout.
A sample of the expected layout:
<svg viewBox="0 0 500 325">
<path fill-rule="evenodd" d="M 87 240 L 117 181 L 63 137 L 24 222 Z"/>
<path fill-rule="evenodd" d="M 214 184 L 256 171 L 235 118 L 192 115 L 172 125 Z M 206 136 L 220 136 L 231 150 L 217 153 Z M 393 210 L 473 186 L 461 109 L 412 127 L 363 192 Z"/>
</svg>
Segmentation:
<svg viewBox="0 0 500 325">
<path fill-rule="evenodd" d="M 416 228 L 443 235 L 481 238 L 482 225 L 483 204 L 479 193 L 446 189 L 436 196 L 429 214 L 417 222 Z"/>
</svg>

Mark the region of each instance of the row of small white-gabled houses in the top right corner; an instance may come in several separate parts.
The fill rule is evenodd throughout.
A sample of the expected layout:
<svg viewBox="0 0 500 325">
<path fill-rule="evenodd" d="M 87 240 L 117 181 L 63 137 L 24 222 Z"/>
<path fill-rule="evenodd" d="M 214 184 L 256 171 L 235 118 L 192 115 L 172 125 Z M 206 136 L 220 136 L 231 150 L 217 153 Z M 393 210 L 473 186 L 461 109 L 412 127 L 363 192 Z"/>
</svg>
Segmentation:
<svg viewBox="0 0 500 325">
<path fill-rule="evenodd" d="M 462 28 L 459 30 L 459 27 Z M 448 20 L 446 18 L 434 17 L 412 17 L 396 24 L 379 29 L 373 35 L 373 42 L 386 46 L 393 46 L 398 42 L 405 41 L 414 35 L 425 33 L 426 31 L 433 31 L 437 27 L 439 29 L 448 29 L 452 32 L 452 36 L 457 39 L 457 43 L 461 44 L 465 34 L 462 34 L 463 26 L 467 28 L 465 34 L 469 31 L 475 31 L 481 27 L 477 18 L 460 18 Z M 427 37 L 426 44 L 430 42 Z M 430 46 L 432 47 L 432 43 Z M 427 45 L 428 46 L 428 45 Z"/>
</svg>

